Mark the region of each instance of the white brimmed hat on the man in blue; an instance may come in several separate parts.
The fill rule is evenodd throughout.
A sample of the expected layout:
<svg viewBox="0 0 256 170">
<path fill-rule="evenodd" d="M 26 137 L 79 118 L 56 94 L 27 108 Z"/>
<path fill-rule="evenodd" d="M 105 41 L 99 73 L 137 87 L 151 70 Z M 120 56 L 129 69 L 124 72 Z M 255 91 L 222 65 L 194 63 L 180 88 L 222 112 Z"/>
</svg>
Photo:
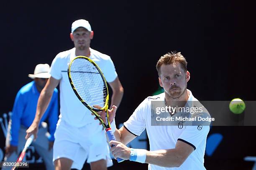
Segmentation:
<svg viewBox="0 0 256 170">
<path fill-rule="evenodd" d="M 50 78 L 51 75 L 49 73 L 50 66 L 48 64 L 38 64 L 36 65 L 34 74 L 29 74 L 28 77 L 34 79 L 35 77 L 38 78 Z"/>
</svg>

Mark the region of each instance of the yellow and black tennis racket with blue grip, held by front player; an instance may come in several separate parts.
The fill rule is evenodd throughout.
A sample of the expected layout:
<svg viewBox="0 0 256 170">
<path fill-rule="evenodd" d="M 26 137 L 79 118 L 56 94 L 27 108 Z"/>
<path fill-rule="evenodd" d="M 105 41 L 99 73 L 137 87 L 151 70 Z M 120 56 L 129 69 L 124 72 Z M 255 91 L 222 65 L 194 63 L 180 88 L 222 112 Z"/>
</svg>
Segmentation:
<svg viewBox="0 0 256 170">
<path fill-rule="evenodd" d="M 69 63 L 69 82 L 78 99 L 97 117 L 108 139 L 115 140 L 108 119 L 108 85 L 100 67 L 88 57 L 77 56 Z M 106 123 L 97 112 L 105 110 Z M 123 160 L 117 158 L 118 163 Z"/>
</svg>

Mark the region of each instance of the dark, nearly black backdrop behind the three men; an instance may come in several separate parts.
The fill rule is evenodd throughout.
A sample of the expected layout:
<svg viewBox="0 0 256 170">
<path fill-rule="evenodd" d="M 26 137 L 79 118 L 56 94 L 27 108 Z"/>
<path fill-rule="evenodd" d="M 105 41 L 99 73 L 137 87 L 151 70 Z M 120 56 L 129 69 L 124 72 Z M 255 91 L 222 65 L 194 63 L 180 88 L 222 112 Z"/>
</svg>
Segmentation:
<svg viewBox="0 0 256 170">
<path fill-rule="evenodd" d="M 170 51 L 186 57 L 188 89 L 197 99 L 255 100 L 255 2 L 5 1 L 0 11 L 0 114 L 12 110 L 16 93 L 31 81 L 27 75 L 38 63 L 50 65 L 57 53 L 73 47 L 69 33 L 77 19 L 89 20 L 95 33 L 91 47 L 115 64 L 125 90 L 118 123 L 158 89 L 156 61 Z M 243 158 L 256 156 L 255 130 L 212 127 L 209 135 L 221 132 L 224 138 L 211 157 L 205 156 L 205 167 L 250 169 L 253 163 Z M 143 165 L 128 162 L 111 169 L 138 166 Z"/>
</svg>

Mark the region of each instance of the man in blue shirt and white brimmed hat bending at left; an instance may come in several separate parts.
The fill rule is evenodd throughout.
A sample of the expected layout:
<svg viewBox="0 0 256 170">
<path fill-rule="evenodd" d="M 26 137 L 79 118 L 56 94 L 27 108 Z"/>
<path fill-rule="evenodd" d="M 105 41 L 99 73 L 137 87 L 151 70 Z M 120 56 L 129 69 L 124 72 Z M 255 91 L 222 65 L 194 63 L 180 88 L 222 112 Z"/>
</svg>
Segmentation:
<svg viewBox="0 0 256 170">
<path fill-rule="evenodd" d="M 50 66 L 48 64 L 36 65 L 34 74 L 28 75 L 33 81 L 24 85 L 16 95 L 13 105 L 13 114 L 8 125 L 6 137 L 5 162 L 15 162 L 26 143 L 26 130 L 32 124 L 36 115 L 36 105 L 40 92 L 51 76 L 49 70 Z M 55 88 L 49 107 L 39 122 L 38 140 L 32 143 L 36 152 L 44 159 L 47 170 L 54 169 L 52 163 L 52 147 L 56 123 L 58 121 L 58 107 L 58 90 Z M 49 133 L 47 124 L 43 122 L 46 119 L 49 122 Z M 7 170 L 11 168 L 12 167 L 4 167 L 3 169 Z"/>
</svg>

